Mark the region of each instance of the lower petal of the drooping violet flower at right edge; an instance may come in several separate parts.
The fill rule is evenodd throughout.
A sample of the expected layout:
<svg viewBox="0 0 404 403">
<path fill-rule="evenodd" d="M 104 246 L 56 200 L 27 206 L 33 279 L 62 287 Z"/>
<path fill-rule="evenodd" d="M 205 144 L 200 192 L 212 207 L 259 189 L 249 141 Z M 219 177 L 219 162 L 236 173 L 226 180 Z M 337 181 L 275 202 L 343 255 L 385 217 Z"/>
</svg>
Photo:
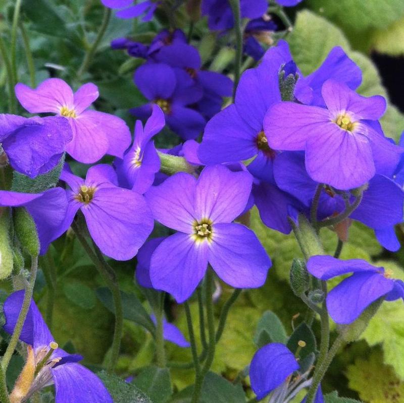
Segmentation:
<svg viewBox="0 0 404 403">
<path fill-rule="evenodd" d="M 328 293 L 328 312 L 336 323 L 351 323 L 372 302 L 389 293 L 393 287 L 394 281 L 379 273 L 355 273 Z"/>
</svg>

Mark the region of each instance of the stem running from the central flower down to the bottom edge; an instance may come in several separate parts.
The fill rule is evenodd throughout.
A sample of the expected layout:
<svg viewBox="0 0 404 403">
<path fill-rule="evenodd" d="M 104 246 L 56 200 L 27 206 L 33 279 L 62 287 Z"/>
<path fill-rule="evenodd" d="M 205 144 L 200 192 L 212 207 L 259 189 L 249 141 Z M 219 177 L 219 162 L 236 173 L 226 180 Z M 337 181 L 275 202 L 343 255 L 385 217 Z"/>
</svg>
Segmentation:
<svg viewBox="0 0 404 403">
<path fill-rule="evenodd" d="M 205 376 L 208 373 L 209 369 L 211 368 L 213 359 L 215 357 L 216 333 L 215 333 L 215 317 L 213 312 L 212 295 L 213 295 L 213 272 L 211 269 L 208 269 L 206 273 L 206 313 L 208 319 L 208 334 L 209 334 L 208 356 L 206 358 L 205 365 L 200 372 L 200 375 L 197 376 L 195 379 L 195 386 L 193 389 L 191 403 L 199 402 L 200 393 L 202 391 Z"/>
</svg>

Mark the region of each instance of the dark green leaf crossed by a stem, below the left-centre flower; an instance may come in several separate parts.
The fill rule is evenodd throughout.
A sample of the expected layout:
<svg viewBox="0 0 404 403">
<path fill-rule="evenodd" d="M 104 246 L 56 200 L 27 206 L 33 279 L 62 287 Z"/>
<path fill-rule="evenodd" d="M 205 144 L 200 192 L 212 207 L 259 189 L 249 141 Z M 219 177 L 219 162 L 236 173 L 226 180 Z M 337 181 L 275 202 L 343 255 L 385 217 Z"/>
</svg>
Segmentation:
<svg viewBox="0 0 404 403">
<path fill-rule="evenodd" d="M 96 293 L 104 306 L 111 312 L 114 312 L 114 302 L 111 291 L 107 287 L 103 287 L 99 288 Z M 131 320 L 132 322 L 143 326 L 151 334 L 154 334 L 156 327 L 138 298 L 134 294 L 127 294 L 122 291 L 121 298 L 124 319 Z"/>
</svg>

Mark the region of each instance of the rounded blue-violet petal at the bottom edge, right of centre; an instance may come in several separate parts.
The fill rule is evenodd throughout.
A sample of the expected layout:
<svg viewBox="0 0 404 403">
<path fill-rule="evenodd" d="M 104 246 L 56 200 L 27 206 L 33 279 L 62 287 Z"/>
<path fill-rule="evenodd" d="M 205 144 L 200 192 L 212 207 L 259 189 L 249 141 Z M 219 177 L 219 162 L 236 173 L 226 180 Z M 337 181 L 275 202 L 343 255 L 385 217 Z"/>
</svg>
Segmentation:
<svg viewBox="0 0 404 403">
<path fill-rule="evenodd" d="M 251 388 L 257 400 L 263 399 L 298 369 L 299 364 L 284 344 L 270 343 L 258 350 L 249 367 Z"/>
</svg>

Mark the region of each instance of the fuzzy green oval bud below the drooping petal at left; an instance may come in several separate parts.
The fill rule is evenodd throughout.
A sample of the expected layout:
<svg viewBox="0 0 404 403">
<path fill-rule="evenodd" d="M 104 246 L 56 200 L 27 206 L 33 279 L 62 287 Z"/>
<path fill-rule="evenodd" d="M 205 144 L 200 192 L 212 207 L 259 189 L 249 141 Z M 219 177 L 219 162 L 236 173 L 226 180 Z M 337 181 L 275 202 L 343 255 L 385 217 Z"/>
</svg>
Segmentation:
<svg viewBox="0 0 404 403">
<path fill-rule="evenodd" d="M 14 229 L 18 240 L 30 256 L 39 255 L 39 239 L 35 222 L 24 207 L 17 207 L 13 214 Z"/>
</svg>

